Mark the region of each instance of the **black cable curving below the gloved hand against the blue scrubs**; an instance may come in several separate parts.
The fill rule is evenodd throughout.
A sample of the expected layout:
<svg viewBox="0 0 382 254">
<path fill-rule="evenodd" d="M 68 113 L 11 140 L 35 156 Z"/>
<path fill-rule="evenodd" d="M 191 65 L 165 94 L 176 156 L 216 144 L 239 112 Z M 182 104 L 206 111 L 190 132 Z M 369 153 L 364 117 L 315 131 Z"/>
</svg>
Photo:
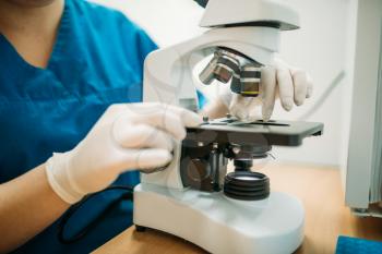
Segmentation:
<svg viewBox="0 0 382 254">
<path fill-rule="evenodd" d="M 89 201 L 92 197 L 107 192 L 107 191 L 114 191 L 114 190 L 122 190 L 126 191 L 126 193 L 123 195 L 121 195 L 120 197 L 118 197 L 117 199 L 112 201 L 93 221 L 91 221 L 86 227 L 84 227 L 82 230 L 80 230 L 79 233 L 74 234 L 71 238 L 65 238 L 64 237 L 64 229 L 65 226 L 68 225 L 70 218 L 87 202 Z M 70 244 L 73 242 L 76 242 L 79 240 L 81 240 L 83 237 L 86 235 L 86 233 L 94 229 L 98 221 L 100 221 L 108 213 L 110 213 L 112 210 L 112 208 L 118 205 L 122 199 L 129 199 L 132 201 L 133 199 L 133 191 L 134 189 L 132 186 L 127 186 L 127 185 L 114 185 L 114 186 L 109 186 L 103 191 L 99 192 L 95 192 L 92 193 L 89 195 L 86 195 L 84 198 L 82 198 L 79 203 L 72 205 L 67 213 L 62 216 L 61 220 L 58 223 L 58 240 L 63 243 L 63 244 Z"/>
</svg>

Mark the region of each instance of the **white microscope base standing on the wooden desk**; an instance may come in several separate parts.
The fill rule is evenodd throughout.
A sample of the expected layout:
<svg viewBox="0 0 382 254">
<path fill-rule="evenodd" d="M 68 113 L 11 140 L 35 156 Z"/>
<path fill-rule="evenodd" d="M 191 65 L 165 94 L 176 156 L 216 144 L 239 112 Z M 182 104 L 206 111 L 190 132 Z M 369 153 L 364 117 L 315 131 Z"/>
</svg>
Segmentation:
<svg viewBox="0 0 382 254">
<path fill-rule="evenodd" d="M 303 240 L 300 201 L 273 192 L 259 202 L 219 193 L 140 184 L 134 190 L 134 223 L 157 229 L 211 253 L 293 253 Z"/>
</svg>

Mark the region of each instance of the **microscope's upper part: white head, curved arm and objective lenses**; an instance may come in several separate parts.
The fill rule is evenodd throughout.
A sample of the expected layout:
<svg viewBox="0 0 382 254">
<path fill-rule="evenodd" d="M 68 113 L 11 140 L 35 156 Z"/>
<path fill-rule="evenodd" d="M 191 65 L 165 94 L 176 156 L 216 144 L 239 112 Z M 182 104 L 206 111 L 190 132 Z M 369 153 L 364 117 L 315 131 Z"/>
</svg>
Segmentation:
<svg viewBox="0 0 382 254">
<path fill-rule="evenodd" d="M 144 101 L 175 104 L 196 110 L 194 68 L 213 60 L 200 74 L 204 84 L 230 82 L 234 93 L 259 95 L 260 69 L 274 63 L 280 32 L 299 27 L 298 13 L 282 0 L 195 0 L 205 5 L 200 36 L 147 56 Z"/>
</svg>

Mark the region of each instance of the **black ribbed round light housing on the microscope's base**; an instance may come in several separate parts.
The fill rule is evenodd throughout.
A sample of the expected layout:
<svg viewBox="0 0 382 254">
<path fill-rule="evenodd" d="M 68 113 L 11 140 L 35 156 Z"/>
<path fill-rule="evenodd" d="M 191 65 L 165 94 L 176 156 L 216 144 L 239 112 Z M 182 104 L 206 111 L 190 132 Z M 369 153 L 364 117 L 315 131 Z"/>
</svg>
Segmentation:
<svg viewBox="0 0 382 254">
<path fill-rule="evenodd" d="M 270 179 L 259 172 L 237 171 L 224 179 L 224 194 L 234 199 L 260 201 L 270 196 Z"/>
</svg>

